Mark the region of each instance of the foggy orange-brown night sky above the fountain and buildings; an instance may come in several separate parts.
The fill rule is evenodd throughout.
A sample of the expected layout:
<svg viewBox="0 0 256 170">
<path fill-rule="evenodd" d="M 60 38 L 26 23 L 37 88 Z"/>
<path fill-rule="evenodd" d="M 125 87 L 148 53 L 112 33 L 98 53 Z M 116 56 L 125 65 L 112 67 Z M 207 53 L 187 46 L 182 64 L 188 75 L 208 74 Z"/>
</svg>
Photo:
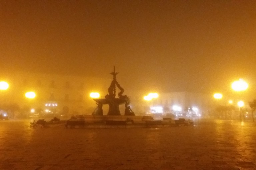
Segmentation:
<svg viewBox="0 0 256 170">
<path fill-rule="evenodd" d="M 256 1 L 2 0 L 0 59 L 6 72 L 107 78 L 115 65 L 145 91 L 252 89 Z"/>
</svg>

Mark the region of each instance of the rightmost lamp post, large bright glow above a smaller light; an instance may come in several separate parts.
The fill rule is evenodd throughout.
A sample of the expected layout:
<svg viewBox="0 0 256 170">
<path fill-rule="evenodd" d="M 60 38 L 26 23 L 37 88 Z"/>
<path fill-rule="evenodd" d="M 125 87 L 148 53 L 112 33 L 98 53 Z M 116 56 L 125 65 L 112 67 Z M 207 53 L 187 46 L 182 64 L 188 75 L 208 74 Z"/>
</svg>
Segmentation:
<svg viewBox="0 0 256 170">
<path fill-rule="evenodd" d="M 236 92 L 242 92 L 242 91 L 245 91 L 247 88 L 248 88 L 248 84 L 243 80 L 243 79 L 239 79 L 237 81 L 234 81 L 232 84 L 231 84 L 231 88 L 236 91 Z M 240 94 L 241 95 L 241 94 Z M 241 97 L 240 97 L 241 98 Z M 241 99 L 240 99 L 241 100 Z M 241 111 L 241 107 L 244 106 L 244 102 L 243 101 L 239 101 L 238 102 L 238 106 L 239 106 L 239 119 L 240 121 L 242 121 L 242 111 Z"/>
</svg>

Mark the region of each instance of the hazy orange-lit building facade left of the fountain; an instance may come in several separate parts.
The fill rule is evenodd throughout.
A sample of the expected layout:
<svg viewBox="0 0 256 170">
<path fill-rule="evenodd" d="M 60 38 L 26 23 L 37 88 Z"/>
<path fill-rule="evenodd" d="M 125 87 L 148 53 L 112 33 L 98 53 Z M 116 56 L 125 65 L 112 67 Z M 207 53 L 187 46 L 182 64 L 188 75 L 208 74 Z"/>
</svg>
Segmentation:
<svg viewBox="0 0 256 170">
<path fill-rule="evenodd" d="M 105 94 L 109 79 L 59 74 L 38 74 L 16 72 L 1 77 L 9 83 L 6 91 L 1 91 L 2 105 L 18 105 L 20 108 L 44 109 L 49 102 L 58 105 L 58 111 L 69 108 L 69 113 L 91 114 L 95 102 L 90 98 L 92 91 Z M 25 96 L 34 92 L 33 99 Z"/>
</svg>

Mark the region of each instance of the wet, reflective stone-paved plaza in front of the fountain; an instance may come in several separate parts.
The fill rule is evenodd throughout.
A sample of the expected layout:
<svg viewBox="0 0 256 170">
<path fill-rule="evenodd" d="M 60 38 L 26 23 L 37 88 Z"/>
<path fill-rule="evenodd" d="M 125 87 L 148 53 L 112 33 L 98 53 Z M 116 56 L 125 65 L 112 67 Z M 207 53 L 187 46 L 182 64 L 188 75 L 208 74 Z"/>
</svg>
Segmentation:
<svg viewBox="0 0 256 170">
<path fill-rule="evenodd" d="M 1 170 L 256 169 L 256 123 L 168 128 L 30 128 L 0 121 Z"/>
</svg>

